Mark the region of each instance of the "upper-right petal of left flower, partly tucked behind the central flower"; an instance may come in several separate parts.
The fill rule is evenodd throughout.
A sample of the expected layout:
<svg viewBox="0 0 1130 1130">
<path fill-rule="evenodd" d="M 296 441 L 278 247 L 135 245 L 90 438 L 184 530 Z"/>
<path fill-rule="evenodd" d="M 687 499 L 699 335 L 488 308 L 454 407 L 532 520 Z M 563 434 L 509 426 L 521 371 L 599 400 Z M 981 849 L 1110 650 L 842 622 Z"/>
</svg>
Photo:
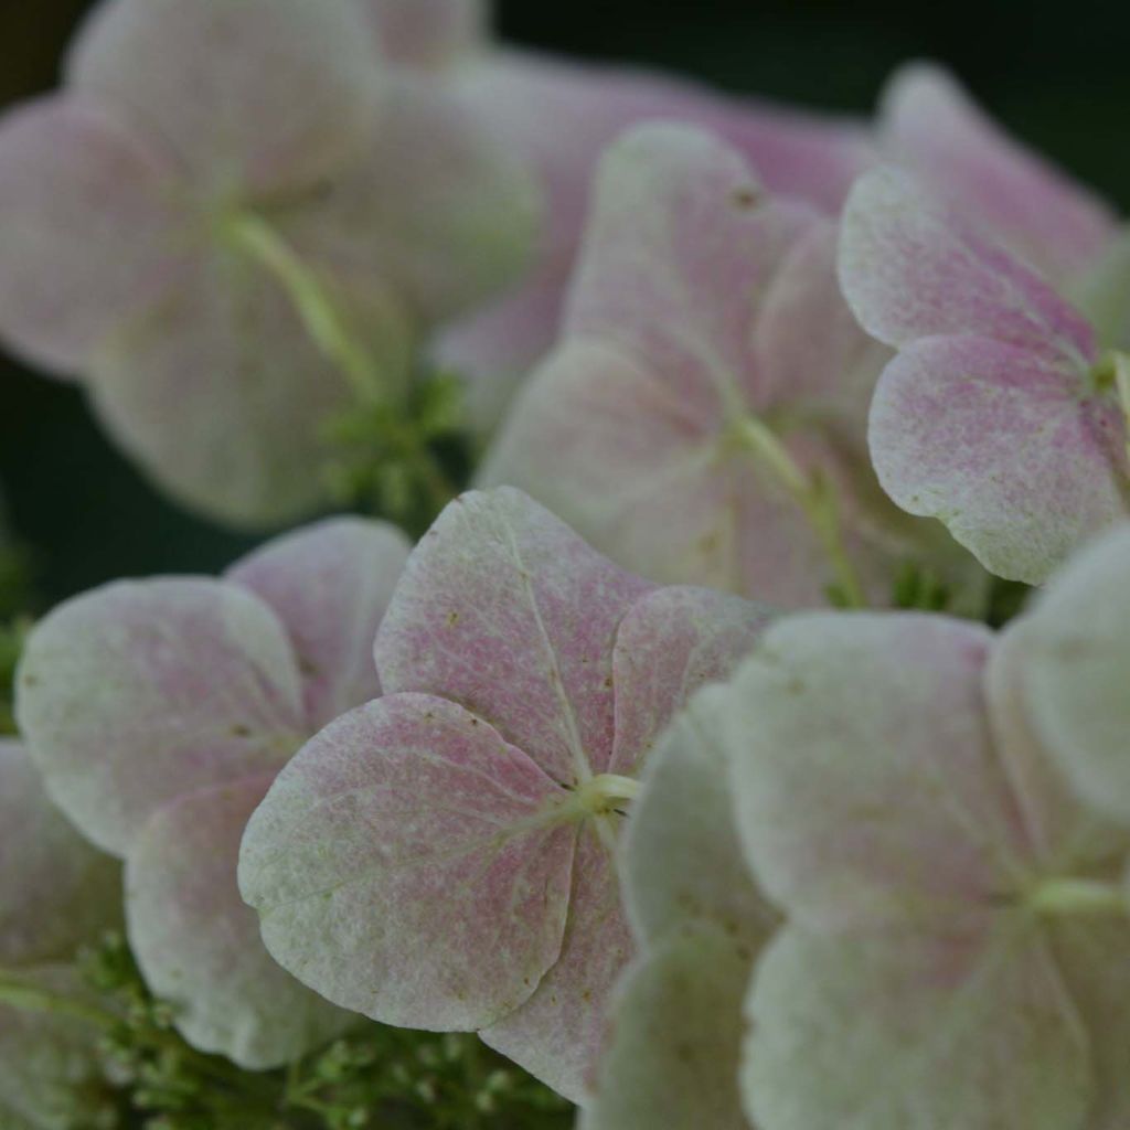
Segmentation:
<svg viewBox="0 0 1130 1130">
<path fill-rule="evenodd" d="M 277 538 L 227 571 L 286 627 L 311 732 L 381 693 L 373 641 L 410 549 L 394 525 L 338 518 Z"/>
</svg>

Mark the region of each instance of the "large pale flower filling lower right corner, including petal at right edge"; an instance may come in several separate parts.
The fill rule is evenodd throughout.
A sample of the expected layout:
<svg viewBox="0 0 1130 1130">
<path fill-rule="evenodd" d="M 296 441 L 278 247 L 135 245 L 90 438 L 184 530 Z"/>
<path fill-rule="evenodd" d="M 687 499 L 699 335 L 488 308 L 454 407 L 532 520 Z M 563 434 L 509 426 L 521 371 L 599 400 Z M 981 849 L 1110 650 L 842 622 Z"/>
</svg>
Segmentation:
<svg viewBox="0 0 1130 1130">
<path fill-rule="evenodd" d="M 788 918 L 747 1000 L 762 1130 L 1130 1121 L 1128 567 L 1122 529 L 999 638 L 797 617 L 715 698 Z"/>
</svg>

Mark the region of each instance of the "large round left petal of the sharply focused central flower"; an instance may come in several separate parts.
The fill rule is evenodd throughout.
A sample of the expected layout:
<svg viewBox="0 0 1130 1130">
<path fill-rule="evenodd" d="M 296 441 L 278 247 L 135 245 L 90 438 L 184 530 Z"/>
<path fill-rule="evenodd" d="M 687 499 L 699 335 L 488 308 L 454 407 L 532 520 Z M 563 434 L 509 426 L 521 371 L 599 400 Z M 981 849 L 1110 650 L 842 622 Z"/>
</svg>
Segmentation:
<svg viewBox="0 0 1130 1130">
<path fill-rule="evenodd" d="M 570 793 L 461 706 L 390 695 L 329 725 L 251 818 L 240 888 L 284 968 L 385 1024 L 473 1029 L 562 951 Z"/>
</svg>

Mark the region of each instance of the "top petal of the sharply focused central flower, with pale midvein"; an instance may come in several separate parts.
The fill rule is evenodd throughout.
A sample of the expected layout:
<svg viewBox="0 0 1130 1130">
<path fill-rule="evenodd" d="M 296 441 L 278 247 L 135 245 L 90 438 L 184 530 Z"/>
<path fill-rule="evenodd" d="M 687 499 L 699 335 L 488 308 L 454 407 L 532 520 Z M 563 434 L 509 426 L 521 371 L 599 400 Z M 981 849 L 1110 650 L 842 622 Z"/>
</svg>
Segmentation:
<svg viewBox="0 0 1130 1130">
<path fill-rule="evenodd" d="M 442 695 L 555 781 L 612 751 L 612 645 L 650 590 L 519 490 L 451 503 L 412 553 L 376 638 L 386 693 Z"/>
</svg>

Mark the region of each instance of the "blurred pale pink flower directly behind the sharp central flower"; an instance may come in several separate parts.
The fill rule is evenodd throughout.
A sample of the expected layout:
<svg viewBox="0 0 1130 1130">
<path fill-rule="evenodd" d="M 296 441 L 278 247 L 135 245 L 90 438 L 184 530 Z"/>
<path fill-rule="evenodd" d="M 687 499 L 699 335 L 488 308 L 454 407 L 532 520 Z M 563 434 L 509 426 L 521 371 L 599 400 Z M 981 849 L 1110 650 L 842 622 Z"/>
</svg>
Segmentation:
<svg viewBox="0 0 1130 1130">
<path fill-rule="evenodd" d="M 562 341 L 483 481 L 529 490 L 658 581 L 886 600 L 932 533 L 867 466 L 887 354 L 843 303 L 835 255 L 835 224 L 766 197 L 722 141 L 631 132 L 601 168 Z"/>
</svg>

